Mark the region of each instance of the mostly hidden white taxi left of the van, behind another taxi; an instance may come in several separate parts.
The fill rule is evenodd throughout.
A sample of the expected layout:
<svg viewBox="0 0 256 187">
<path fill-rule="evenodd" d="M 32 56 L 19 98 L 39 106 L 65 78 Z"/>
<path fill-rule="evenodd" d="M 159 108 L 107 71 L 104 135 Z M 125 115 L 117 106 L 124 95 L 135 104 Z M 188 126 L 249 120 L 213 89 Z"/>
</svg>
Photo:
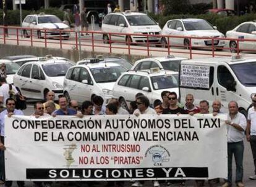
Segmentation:
<svg viewBox="0 0 256 187">
<path fill-rule="evenodd" d="M 181 60 L 187 60 L 187 58 L 174 57 L 173 55 L 168 55 L 167 57 L 143 58 L 136 61 L 131 70 L 150 70 L 151 68 L 160 68 L 160 70 L 179 71 Z"/>
</svg>

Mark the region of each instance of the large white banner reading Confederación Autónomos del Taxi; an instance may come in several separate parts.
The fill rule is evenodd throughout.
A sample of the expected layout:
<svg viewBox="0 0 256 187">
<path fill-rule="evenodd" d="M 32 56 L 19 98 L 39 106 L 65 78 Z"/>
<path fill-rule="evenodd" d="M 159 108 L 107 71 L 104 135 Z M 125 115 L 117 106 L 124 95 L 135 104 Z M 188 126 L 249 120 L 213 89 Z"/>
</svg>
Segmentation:
<svg viewBox="0 0 256 187">
<path fill-rule="evenodd" d="M 6 178 L 226 178 L 225 118 L 224 114 L 6 117 Z"/>
</svg>

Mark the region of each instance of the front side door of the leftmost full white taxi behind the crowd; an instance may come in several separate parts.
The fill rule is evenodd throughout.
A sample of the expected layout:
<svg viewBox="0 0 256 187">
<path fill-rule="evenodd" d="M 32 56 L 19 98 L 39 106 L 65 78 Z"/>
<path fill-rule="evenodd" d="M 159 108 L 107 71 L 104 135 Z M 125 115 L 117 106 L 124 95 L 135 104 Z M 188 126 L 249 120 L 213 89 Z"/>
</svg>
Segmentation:
<svg viewBox="0 0 256 187">
<path fill-rule="evenodd" d="M 32 73 L 31 73 L 31 79 L 29 80 L 29 84 L 31 86 L 31 92 L 33 93 L 33 98 L 41 98 L 41 95 L 43 95 L 43 87 L 42 85 L 45 85 L 45 80 L 43 79 L 43 76 L 40 76 L 40 70 L 39 66 L 36 64 L 33 64 L 32 66 Z"/>
</svg>

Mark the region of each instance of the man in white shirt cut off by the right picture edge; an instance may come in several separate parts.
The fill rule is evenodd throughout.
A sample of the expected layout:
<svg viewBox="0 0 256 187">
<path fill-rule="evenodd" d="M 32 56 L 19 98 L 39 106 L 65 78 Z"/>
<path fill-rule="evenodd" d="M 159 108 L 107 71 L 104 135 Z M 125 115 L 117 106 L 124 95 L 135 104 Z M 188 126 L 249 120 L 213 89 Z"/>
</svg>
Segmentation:
<svg viewBox="0 0 256 187">
<path fill-rule="evenodd" d="M 252 156 L 254 157 L 254 175 L 250 176 L 250 180 L 256 180 L 256 95 L 252 97 L 252 107 L 248 111 L 246 138 L 250 141 Z"/>
</svg>

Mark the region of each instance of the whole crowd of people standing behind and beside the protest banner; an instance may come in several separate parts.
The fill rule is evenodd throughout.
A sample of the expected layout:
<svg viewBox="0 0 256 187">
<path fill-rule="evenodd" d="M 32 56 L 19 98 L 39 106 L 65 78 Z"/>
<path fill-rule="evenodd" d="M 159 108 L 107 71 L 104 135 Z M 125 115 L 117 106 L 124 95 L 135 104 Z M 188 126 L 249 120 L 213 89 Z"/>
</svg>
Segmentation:
<svg viewBox="0 0 256 187">
<path fill-rule="evenodd" d="M 0 161 L 0 183 L 5 186 L 12 186 L 12 181 L 5 181 L 4 175 L 4 117 L 12 115 L 23 115 L 22 110 L 17 109 L 17 100 L 9 97 L 9 86 L 6 83 L 5 78 L 0 78 L 0 102 L 2 105 L 2 111 L 0 113 L 0 149 L 1 149 L 1 161 Z M 15 90 L 15 88 L 13 88 Z M 14 91 L 16 95 L 19 95 L 17 90 Z M 124 109 L 121 103 L 116 98 L 113 98 L 105 105 L 104 99 L 98 95 L 92 98 L 92 101 L 84 101 L 79 107 L 79 104 L 75 100 L 67 101 L 67 98 L 59 97 L 58 104 L 54 102 L 55 94 L 49 91 L 46 95 L 45 103 L 36 102 L 34 105 L 33 117 L 42 116 L 77 116 L 83 117 L 88 115 L 115 115 L 115 114 L 134 114 L 135 116 L 143 114 L 210 114 L 210 103 L 207 100 L 202 100 L 199 106 L 194 104 L 194 96 L 192 94 L 186 95 L 186 103 L 181 106 L 178 102 L 176 92 L 163 91 L 161 93 L 162 101 L 156 101 L 153 106 L 150 105 L 148 98 L 142 93 L 135 95 L 135 101 L 130 102 L 129 109 Z M 217 116 L 221 112 L 221 102 L 219 100 L 213 101 L 211 105 L 211 114 Z M 236 184 L 239 187 L 244 186 L 243 179 L 243 153 L 244 153 L 244 136 L 250 141 L 252 148 L 252 154 L 254 157 L 255 171 L 254 175 L 250 177 L 251 180 L 256 180 L 256 95 L 252 98 L 252 107 L 249 109 L 248 117 L 245 118 L 244 114 L 239 113 L 239 106 L 236 101 L 229 102 L 229 113 L 226 119 L 226 126 L 228 129 L 228 178 L 225 180 L 223 187 L 231 186 L 232 184 L 232 160 L 233 155 L 236 160 Z M 184 186 L 184 180 L 169 180 L 168 185 L 173 183 L 179 183 Z M 219 183 L 219 179 L 209 180 L 209 183 Z M 205 181 L 196 180 L 197 186 L 204 186 Z M 17 181 L 18 186 L 24 186 L 23 181 Z M 35 182 L 36 186 L 51 186 L 49 182 Z M 123 186 L 124 182 L 118 183 L 109 182 L 109 186 Z M 142 181 L 134 181 L 132 186 L 142 186 Z M 153 186 L 160 186 L 159 181 L 153 181 Z"/>
</svg>

